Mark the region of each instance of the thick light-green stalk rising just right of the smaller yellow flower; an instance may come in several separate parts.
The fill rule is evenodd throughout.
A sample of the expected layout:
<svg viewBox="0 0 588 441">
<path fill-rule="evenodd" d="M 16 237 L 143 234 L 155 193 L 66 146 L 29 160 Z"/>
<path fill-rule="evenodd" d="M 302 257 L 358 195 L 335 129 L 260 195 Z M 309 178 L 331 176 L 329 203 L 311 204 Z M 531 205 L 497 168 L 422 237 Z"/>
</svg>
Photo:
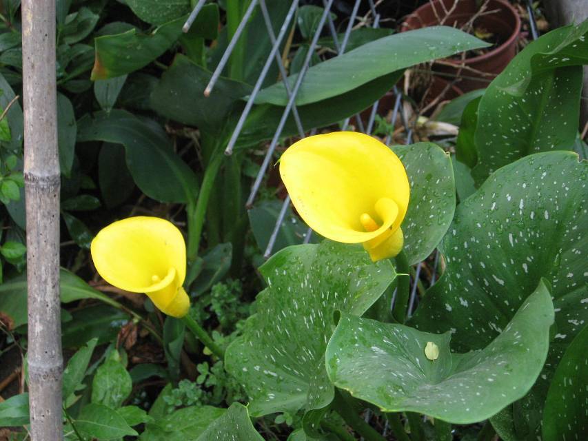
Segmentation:
<svg viewBox="0 0 588 441">
<path fill-rule="evenodd" d="M 200 188 L 196 205 L 188 204 L 186 207 L 188 221 L 187 260 L 194 260 L 198 256 L 206 207 L 210 199 L 210 192 L 212 192 L 212 187 L 214 186 L 214 180 L 216 175 L 219 174 L 223 157 L 223 154 L 218 153 L 212 157 L 204 172 L 202 187 Z"/>
</svg>

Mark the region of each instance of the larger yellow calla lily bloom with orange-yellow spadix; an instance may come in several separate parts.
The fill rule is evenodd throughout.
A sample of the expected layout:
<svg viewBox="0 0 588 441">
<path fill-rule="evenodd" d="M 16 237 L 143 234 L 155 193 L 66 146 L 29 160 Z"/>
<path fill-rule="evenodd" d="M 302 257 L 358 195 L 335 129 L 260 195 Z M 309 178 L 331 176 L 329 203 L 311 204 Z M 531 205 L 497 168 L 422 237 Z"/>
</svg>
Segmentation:
<svg viewBox="0 0 588 441">
<path fill-rule="evenodd" d="M 280 174 L 298 214 L 321 236 L 363 243 L 374 262 L 401 252 L 410 188 L 400 159 L 380 141 L 355 132 L 309 136 L 285 151 Z"/>
</svg>

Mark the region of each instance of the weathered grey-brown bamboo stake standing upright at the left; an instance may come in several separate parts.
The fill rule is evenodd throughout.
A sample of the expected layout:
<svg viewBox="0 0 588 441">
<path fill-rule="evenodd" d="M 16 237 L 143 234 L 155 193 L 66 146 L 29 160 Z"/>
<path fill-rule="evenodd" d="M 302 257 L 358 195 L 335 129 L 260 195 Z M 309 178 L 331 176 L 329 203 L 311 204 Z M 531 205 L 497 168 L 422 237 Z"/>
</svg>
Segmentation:
<svg viewBox="0 0 588 441">
<path fill-rule="evenodd" d="M 32 441 L 63 439 L 55 0 L 24 0 L 28 385 Z"/>
</svg>

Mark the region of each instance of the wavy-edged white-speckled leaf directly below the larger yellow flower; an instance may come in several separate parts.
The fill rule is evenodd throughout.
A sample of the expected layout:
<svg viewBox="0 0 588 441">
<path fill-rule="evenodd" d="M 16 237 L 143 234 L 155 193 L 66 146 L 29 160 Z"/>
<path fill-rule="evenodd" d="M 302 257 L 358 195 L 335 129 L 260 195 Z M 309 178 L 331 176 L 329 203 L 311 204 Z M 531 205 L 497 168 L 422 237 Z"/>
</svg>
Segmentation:
<svg viewBox="0 0 588 441">
<path fill-rule="evenodd" d="M 260 268 L 267 289 L 243 336 L 227 348 L 226 368 L 250 396 L 253 416 L 320 409 L 334 389 L 325 347 L 337 309 L 363 314 L 396 274 L 361 246 L 332 243 L 282 249 Z"/>
</svg>

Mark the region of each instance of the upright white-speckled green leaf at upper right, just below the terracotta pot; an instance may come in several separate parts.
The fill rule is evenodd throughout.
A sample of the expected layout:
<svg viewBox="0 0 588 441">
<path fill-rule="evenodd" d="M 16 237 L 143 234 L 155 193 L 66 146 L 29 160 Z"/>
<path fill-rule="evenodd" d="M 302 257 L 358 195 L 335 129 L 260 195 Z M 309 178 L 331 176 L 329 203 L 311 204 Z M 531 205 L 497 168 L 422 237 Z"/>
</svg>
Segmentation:
<svg viewBox="0 0 588 441">
<path fill-rule="evenodd" d="M 480 185 L 528 154 L 571 150 L 578 130 L 588 21 L 533 41 L 488 86 L 478 107 L 475 143 Z"/>
</svg>

